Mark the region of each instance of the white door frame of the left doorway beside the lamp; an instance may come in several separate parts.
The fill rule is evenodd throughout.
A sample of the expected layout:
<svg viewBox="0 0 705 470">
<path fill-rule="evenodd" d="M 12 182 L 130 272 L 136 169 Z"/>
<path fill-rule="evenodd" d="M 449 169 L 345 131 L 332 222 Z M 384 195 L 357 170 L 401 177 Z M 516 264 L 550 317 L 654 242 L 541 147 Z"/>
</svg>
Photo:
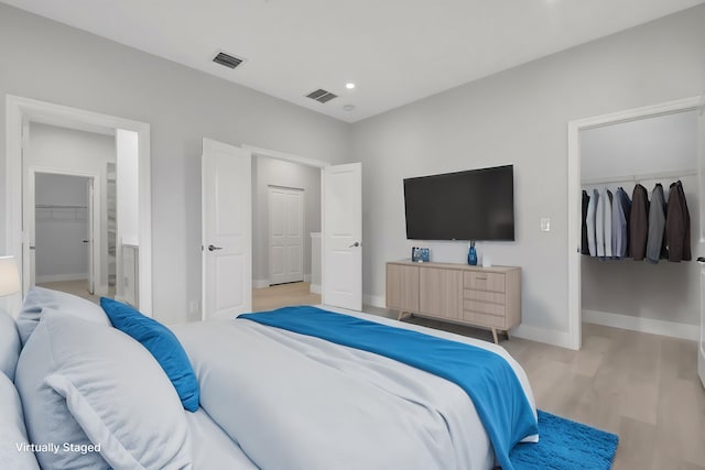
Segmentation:
<svg viewBox="0 0 705 470">
<path fill-rule="evenodd" d="M 140 309 L 152 316 L 152 192 L 150 124 L 109 114 L 6 95 L 6 253 L 15 256 L 20 278 L 25 275 L 25 234 L 22 228 L 22 149 L 23 128 L 30 122 L 59 125 L 88 132 L 115 133 L 124 129 L 139 139 L 139 236 Z M 24 292 L 23 292 L 24 294 Z M 9 297 L 10 311 L 18 311 L 20 296 Z"/>
</svg>

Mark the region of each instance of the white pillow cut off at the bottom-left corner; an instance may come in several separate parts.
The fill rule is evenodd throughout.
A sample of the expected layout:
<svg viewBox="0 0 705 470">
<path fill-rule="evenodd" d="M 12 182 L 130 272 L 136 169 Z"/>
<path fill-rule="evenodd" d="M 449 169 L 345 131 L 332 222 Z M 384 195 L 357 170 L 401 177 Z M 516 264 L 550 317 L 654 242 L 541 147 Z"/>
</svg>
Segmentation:
<svg viewBox="0 0 705 470">
<path fill-rule="evenodd" d="M 26 440 L 22 403 L 10 379 L 0 374 L 0 463 L 3 469 L 40 470 Z"/>
</svg>

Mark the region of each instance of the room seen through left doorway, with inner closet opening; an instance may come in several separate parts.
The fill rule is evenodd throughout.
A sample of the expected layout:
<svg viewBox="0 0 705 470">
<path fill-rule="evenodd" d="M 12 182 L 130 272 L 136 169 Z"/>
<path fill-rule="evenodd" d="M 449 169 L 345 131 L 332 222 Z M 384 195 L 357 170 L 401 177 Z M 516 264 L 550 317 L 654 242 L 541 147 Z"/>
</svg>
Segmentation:
<svg viewBox="0 0 705 470">
<path fill-rule="evenodd" d="M 29 285 L 94 302 L 115 296 L 115 133 L 39 122 L 26 128 Z"/>
</svg>

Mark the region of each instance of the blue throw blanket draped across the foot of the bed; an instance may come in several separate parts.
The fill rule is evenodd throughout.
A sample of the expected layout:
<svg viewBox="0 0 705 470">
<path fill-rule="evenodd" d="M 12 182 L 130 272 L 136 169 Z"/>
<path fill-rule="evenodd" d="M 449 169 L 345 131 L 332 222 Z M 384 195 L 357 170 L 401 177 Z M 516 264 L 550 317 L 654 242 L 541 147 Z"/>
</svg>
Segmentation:
<svg viewBox="0 0 705 470">
<path fill-rule="evenodd" d="M 511 365 L 491 351 L 316 307 L 285 307 L 239 318 L 386 356 L 458 384 L 473 400 L 503 470 L 509 450 L 539 433 Z"/>
</svg>

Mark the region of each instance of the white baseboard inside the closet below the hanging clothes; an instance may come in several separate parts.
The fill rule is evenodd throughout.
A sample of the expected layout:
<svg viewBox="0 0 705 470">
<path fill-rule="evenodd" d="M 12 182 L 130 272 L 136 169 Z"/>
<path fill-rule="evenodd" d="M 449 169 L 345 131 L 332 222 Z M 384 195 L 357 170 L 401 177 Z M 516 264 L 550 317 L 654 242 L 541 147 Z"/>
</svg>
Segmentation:
<svg viewBox="0 0 705 470">
<path fill-rule="evenodd" d="M 599 310 L 583 310 L 583 321 L 606 327 L 670 336 L 697 341 L 701 336 L 699 326 L 679 324 L 675 321 L 655 320 L 653 318 L 632 317 Z"/>
</svg>

